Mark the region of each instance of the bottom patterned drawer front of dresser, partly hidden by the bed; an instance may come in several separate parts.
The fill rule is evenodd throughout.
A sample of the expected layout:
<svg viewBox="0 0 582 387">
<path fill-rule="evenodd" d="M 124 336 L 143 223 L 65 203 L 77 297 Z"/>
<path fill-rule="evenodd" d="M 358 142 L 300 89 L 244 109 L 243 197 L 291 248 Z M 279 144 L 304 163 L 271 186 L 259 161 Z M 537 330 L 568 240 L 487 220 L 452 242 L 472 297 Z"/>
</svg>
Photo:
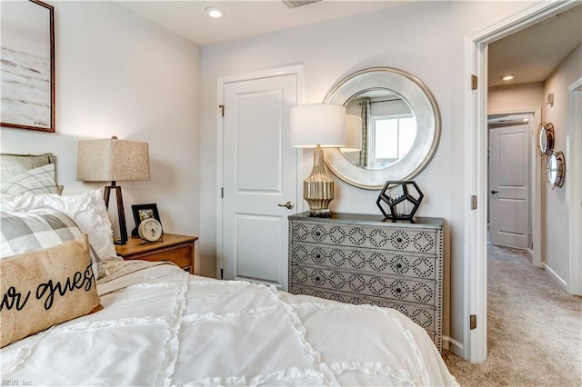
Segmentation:
<svg viewBox="0 0 582 387">
<path fill-rule="evenodd" d="M 313 295 L 315 297 L 325 298 L 326 300 L 338 301 L 340 303 L 353 303 L 355 305 L 369 303 L 371 305 L 382 306 L 385 308 L 393 308 L 396 309 L 396 311 L 405 314 L 409 319 L 411 319 L 418 325 L 422 326 L 427 331 L 433 331 L 432 334 L 434 336 L 435 311 L 430 308 L 422 308 L 401 303 L 393 303 L 388 300 L 382 300 L 377 298 L 372 299 L 360 297 L 358 296 L 358 294 L 330 293 L 320 289 L 297 286 L 295 284 L 291 285 L 290 291 L 291 293 L 294 294 Z"/>
</svg>

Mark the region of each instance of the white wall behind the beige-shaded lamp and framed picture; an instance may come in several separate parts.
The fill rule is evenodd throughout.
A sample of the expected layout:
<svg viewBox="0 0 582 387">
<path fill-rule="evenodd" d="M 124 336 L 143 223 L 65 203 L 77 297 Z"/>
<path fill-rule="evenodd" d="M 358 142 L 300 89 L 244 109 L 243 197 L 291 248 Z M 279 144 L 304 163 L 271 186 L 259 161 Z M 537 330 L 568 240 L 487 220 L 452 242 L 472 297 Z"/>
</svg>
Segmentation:
<svg viewBox="0 0 582 387">
<path fill-rule="evenodd" d="M 54 5 L 56 133 L 2 128 L 1 151 L 53 152 L 67 194 L 105 185 L 75 181 L 78 140 L 147 142 L 151 181 L 119 183 L 128 232 L 131 204 L 157 203 L 166 232 L 196 235 L 199 47 L 112 2 Z"/>
</svg>

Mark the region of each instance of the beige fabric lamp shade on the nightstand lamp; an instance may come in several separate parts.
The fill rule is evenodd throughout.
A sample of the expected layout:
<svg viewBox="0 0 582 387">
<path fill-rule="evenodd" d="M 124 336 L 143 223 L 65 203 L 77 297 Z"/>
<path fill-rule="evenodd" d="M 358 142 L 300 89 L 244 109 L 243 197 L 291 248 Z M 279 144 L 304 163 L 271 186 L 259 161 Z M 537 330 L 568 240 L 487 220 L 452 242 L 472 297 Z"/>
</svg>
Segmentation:
<svg viewBox="0 0 582 387">
<path fill-rule="evenodd" d="M 123 182 L 149 180 L 147 143 L 118 140 L 79 141 L 76 180 Z"/>
</svg>

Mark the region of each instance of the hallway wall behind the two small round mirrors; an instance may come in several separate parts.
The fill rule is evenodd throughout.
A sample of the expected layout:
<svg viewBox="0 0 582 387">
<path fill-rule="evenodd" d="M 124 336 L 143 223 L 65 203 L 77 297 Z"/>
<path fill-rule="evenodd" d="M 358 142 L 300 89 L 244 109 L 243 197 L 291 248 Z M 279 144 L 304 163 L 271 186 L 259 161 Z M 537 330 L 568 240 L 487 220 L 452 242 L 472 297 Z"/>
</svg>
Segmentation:
<svg viewBox="0 0 582 387">
<path fill-rule="evenodd" d="M 545 82 L 544 94 L 554 94 L 554 104 L 544 105 L 543 116 L 548 123 L 554 124 L 555 151 L 564 152 L 566 168 L 568 167 L 568 155 L 566 154 L 567 117 L 568 117 L 568 93 L 567 88 L 582 77 L 582 45 L 567 56 L 557 66 L 556 70 Z M 582 130 L 582 128 L 578 128 Z M 579 149 L 578 152 L 582 152 Z M 546 257 L 547 268 L 556 276 L 556 279 L 564 287 L 569 275 L 567 260 L 568 252 L 568 203 L 567 184 L 561 188 L 545 189 L 544 218 L 546 220 L 542 233 L 545 241 L 543 256 Z"/>
</svg>

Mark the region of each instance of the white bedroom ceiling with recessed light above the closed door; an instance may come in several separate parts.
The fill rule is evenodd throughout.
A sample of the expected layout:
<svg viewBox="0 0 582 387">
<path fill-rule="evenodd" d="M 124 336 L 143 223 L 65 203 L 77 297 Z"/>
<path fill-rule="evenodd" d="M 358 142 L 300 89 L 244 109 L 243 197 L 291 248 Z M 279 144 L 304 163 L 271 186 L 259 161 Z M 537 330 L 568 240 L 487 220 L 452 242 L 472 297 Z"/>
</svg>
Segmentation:
<svg viewBox="0 0 582 387">
<path fill-rule="evenodd" d="M 177 35 L 186 37 L 196 45 L 203 46 L 265 35 L 299 25 L 366 14 L 378 9 L 409 4 L 410 0 L 323 0 L 292 9 L 277 0 L 119 1 L 118 3 L 135 14 Z M 226 12 L 226 15 L 220 19 L 213 19 L 205 13 L 208 6 L 218 6 Z"/>
</svg>

